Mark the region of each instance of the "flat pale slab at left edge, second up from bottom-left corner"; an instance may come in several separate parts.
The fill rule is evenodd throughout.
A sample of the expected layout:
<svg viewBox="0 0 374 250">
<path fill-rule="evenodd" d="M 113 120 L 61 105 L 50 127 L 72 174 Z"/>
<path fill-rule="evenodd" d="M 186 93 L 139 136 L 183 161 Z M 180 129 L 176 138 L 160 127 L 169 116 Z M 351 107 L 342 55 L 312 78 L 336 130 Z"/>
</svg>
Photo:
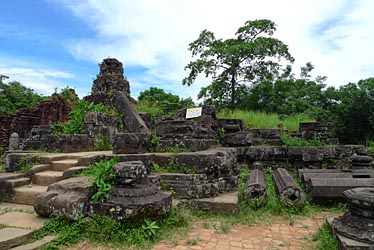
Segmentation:
<svg viewBox="0 0 374 250">
<path fill-rule="evenodd" d="M 44 220 L 39 218 L 35 213 L 29 214 L 12 211 L 0 215 L 0 224 L 9 227 L 40 229 L 44 226 Z"/>
</svg>

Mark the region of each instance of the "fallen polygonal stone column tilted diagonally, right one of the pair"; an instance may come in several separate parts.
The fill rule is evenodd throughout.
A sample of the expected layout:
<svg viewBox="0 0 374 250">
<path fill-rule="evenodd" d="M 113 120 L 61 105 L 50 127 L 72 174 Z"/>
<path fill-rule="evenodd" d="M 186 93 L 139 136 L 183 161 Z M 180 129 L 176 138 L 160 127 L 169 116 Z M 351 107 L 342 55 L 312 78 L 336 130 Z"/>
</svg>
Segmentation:
<svg viewBox="0 0 374 250">
<path fill-rule="evenodd" d="M 297 207 L 305 205 L 304 191 L 296 184 L 286 169 L 277 168 L 273 173 L 273 180 L 275 191 L 282 201 Z"/>
</svg>

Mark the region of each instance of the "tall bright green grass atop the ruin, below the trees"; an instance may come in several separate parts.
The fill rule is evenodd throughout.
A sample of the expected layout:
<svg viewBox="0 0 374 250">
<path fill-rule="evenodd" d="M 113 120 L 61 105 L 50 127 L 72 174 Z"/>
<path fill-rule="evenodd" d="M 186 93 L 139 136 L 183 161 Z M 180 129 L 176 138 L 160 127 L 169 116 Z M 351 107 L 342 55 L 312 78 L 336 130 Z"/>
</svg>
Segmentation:
<svg viewBox="0 0 374 250">
<path fill-rule="evenodd" d="M 300 122 L 313 122 L 305 114 L 290 115 L 283 119 L 278 114 L 264 113 L 259 111 L 247 110 L 222 110 L 219 111 L 217 116 L 226 119 L 243 119 L 244 126 L 248 128 L 277 128 L 278 124 L 283 124 L 283 129 L 299 130 Z"/>
</svg>

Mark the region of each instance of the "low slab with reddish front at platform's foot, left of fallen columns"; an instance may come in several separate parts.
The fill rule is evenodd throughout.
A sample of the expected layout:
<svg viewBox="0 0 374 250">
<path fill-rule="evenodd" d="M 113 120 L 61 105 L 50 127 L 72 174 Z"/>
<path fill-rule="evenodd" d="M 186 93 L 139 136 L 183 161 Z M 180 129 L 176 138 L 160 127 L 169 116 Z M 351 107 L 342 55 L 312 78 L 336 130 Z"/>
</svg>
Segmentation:
<svg viewBox="0 0 374 250">
<path fill-rule="evenodd" d="M 237 214 L 239 199 L 238 193 L 232 192 L 212 198 L 180 200 L 179 204 L 186 204 L 198 210 L 212 210 L 219 214 Z"/>
</svg>

